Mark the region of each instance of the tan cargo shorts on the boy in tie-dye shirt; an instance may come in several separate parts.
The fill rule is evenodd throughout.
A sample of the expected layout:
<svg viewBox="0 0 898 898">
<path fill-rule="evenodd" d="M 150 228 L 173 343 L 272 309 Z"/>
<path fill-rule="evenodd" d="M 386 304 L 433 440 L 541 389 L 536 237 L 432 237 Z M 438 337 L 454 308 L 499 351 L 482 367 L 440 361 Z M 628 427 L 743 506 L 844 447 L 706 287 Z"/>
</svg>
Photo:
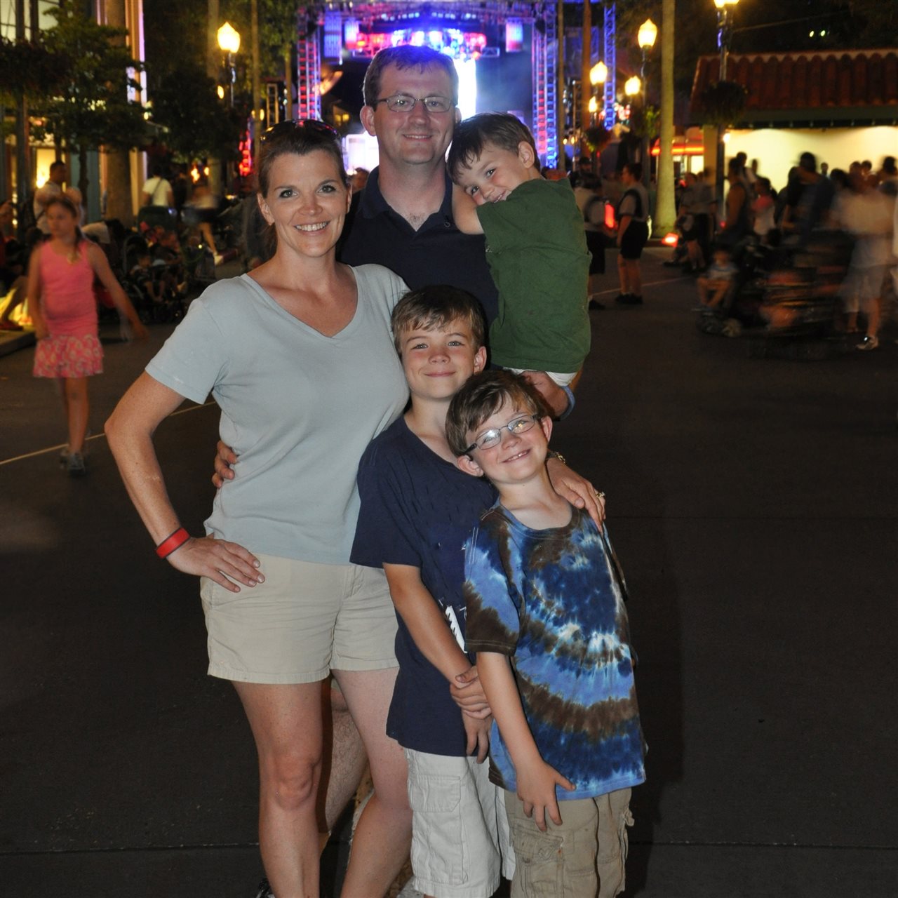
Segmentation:
<svg viewBox="0 0 898 898">
<path fill-rule="evenodd" d="M 559 801 L 561 825 L 546 816 L 546 832 L 524 814 L 524 802 L 506 792 L 515 848 L 511 898 L 613 898 L 624 887 L 629 788 L 597 798 Z"/>
</svg>

